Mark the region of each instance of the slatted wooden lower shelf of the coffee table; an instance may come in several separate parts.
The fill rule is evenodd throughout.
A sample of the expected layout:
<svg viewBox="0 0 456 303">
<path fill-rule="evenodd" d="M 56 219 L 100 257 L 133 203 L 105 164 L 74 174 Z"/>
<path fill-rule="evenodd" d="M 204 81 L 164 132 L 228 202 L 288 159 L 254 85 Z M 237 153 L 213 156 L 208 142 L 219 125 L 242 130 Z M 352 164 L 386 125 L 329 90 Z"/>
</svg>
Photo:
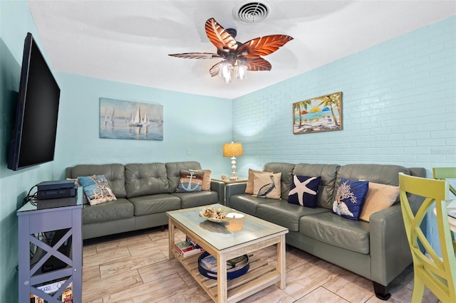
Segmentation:
<svg viewBox="0 0 456 303">
<path fill-rule="evenodd" d="M 174 255 L 182 266 L 190 272 L 190 275 L 198 282 L 199 286 L 217 302 L 217 280 L 209 279 L 199 273 L 198 257 L 200 254 L 182 257 L 179 253 L 174 252 Z M 245 275 L 227 281 L 227 302 L 237 302 L 258 292 L 260 289 L 264 289 L 264 287 L 274 285 L 280 281 L 280 275 L 276 267 L 269 265 L 265 260 L 249 255 L 249 263 L 250 268 Z"/>
</svg>

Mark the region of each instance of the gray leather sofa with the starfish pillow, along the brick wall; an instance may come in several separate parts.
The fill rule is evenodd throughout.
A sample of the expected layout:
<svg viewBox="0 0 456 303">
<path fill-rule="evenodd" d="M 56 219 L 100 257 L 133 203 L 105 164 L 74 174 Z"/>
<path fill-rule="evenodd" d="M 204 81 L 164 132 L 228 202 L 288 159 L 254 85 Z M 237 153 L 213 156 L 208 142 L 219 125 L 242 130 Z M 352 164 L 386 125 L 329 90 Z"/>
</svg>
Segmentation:
<svg viewBox="0 0 456 303">
<path fill-rule="evenodd" d="M 281 173 L 281 200 L 246 194 L 246 183 L 229 184 L 225 187 L 227 206 L 289 228 L 287 244 L 372 280 L 377 297 L 389 299 L 388 284 L 412 263 L 400 204 L 373 213 L 369 222 L 337 216 L 331 213 L 332 204 L 342 177 L 398 186 L 399 172 L 425 176 L 425 169 L 380 164 L 268 163 L 263 171 Z M 288 203 L 293 174 L 321 176 L 317 208 Z M 415 204 L 422 202 L 418 197 L 413 200 Z"/>
</svg>

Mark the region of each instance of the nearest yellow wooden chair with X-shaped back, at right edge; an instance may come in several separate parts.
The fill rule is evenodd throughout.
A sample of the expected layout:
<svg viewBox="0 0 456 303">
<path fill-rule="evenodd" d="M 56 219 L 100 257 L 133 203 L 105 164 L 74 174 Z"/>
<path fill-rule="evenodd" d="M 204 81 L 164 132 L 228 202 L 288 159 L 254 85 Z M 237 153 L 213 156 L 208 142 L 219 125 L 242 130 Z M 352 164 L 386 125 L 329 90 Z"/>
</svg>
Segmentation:
<svg viewBox="0 0 456 303">
<path fill-rule="evenodd" d="M 456 302 L 456 243 L 450 230 L 447 214 L 449 196 L 447 181 L 425 179 L 399 173 L 400 207 L 402 208 L 405 232 L 413 257 L 414 284 L 412 302 L 421 302 L 425 286 L 443 303 Z M 425 198 L 416 215 L 413 214 L 408 193 Z M 435 203 L 437 231 L 442 257 L 439 257 L 427 241 L 420 225 L 427 211 Z M 425 252 L 420 250 L 423 246 Z M 426 255 L 425 255 L 426 253 Z"/>
</svg>

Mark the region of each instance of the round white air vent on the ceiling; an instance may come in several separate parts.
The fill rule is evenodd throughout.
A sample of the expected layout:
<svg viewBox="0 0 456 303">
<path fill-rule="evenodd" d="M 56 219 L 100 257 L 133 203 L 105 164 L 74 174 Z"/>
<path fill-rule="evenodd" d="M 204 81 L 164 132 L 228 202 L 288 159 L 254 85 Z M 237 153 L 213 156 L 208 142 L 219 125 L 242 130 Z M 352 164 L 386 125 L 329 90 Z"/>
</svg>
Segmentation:
<svg viewBox="0 0 456 303">
<path fill-rule="evenodd" d="M 258 23 L 271 14 L 271 3 L 269 1 L 240 1 L 234 6 L 234 18 L 244 23 Z"/>
</svg>

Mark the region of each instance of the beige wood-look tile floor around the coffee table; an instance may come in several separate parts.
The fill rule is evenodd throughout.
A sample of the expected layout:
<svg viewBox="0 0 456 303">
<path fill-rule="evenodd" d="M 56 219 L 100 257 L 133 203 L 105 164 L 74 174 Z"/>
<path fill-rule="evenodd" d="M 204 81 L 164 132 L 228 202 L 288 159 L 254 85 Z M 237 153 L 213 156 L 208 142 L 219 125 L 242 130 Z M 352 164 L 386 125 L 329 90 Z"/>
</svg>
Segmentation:
<svg viewBox="0 0 456 303">
<path fill-rule="evenodd" d="M 176 240 L 185 235 L 176 230 Z M 255 255 L 276 262 L 275 248 Z M 388 302 L 410 302 L 413 267 L 390 287 Z M 176 260 L 168 257 L 168 233 L 160 228 L 84 241 L 83 303 L 212 302 Z M 370 280 L 286 246 L 286 288 L 272 285 L 241 302 L 385 302 L 373 294 Z M 428 289 L 423 302 L 437 303 Z"/>
</svg>

